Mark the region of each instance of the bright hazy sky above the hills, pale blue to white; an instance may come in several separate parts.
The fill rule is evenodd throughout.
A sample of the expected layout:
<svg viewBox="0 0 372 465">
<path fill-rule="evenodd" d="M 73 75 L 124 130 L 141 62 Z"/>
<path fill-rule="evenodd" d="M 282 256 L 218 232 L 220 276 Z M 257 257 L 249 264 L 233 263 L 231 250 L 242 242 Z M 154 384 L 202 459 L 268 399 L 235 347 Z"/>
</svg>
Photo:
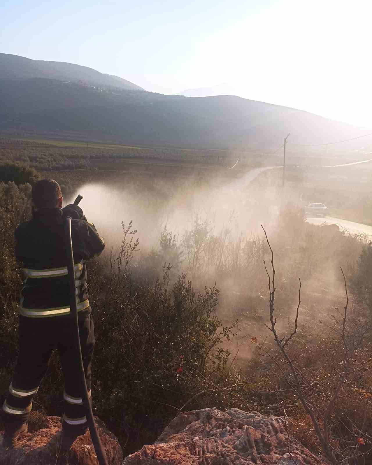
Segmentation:
<svg viewBox="0 0 372 465">
<path fill-rule="evenodd" d="M 372 127 L 371 0 L 8 0 L 0 51 Z"/>
</svg>

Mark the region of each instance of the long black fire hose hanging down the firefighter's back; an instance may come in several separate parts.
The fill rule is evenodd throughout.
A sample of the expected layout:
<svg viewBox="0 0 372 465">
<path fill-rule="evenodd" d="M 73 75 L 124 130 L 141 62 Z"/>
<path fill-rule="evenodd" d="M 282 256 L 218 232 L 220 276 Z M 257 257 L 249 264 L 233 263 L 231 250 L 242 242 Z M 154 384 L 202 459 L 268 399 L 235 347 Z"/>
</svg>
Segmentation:
<svg viewBox="0 0 372 465">
<path fill-rule="evenodd" d="M 80 200 L 83 197 L 78 195 L 73 202 L 73 205 L 78 205 Z M 79 376 L 80 392 L 81 398 L 83 400 L 83 405 L 85 408 L 86 419 L 88 422 L 89 432 L 92 438 L 94 450 L 96 452 L 98 462 L 100 465 L 108 465 L 105 451 L 103 450 L 100 436 L 97 431 L 97 426 L 94 421 L 92 405 L 88 396 L 88 389 L 86 387 L 86 379 L 84 373 L 83 357 L 81 354 L 81 345 L 80 345 L 80 333 L 79 333 L 79 319 L 78 311 L 76 306 L 76 294 L 75 294 L 75 268 L 73 261 L 73 242 L 71 237 L 71 216 L 66 216 L 65 223 L 65 234 L 66 234 L 66 252 L 67 252 L 67 270 L 69 278 L 69 287 L 70 287 L 70 318 L 71 323 L 75 328 L 75 347 L 76 347 L 76 357 L 80 360 L 80 368 L 77 373 Z"/>
</svg>

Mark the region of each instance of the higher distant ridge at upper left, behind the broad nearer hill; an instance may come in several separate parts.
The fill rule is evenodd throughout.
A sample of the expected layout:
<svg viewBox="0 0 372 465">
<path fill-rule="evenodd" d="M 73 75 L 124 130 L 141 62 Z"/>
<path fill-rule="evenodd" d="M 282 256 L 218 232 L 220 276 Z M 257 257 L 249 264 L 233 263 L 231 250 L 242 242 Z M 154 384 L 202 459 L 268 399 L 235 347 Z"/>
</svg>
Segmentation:
<svg viewBox="0 0 372 465">
<path fill-rule="evenodd" d="M 126 90 L 143 90 L 118 76 L 103 74 L 87 66 L 61 61 L 30 60 L 8 53 L 0 53 L 0 79 L 26 80 L 32 78 L 56 79 L 65 82 L 83 82 L 92 86 Z"/>
</svg>

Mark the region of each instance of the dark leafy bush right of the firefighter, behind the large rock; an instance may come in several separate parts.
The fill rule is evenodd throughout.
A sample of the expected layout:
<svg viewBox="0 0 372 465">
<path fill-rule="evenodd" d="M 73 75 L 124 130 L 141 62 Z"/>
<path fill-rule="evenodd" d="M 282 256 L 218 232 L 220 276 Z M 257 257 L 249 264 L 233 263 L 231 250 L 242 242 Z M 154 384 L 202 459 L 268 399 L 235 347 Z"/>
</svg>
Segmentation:
<svg viewBox="0 0 372 465">
<path fill-rule="evenodd" d="M 134 286 L 130 263 L 138 241 L 131 227 L 123 224 L 124 239 L 118 255 L 108 258 L 106 276 L 102 265 L 91 270 L 97 335 L 93 382 L 98 412 L 120 425 L 125 420 L 139 434 L 149 412 L 151 421 L 164 427 L 206 388 L 202 376 L 224 372 L 230 353 L 223 343 L 233 328 L 222 326 L 216 314 L 215 286 L 194 291 L 181 274 L 169 288 L 170 266 L 163 266 L 161 279 L 151 285 Z M 165 249 L 172 246 L 171 236 L 162 238 Z"/>
</svg>

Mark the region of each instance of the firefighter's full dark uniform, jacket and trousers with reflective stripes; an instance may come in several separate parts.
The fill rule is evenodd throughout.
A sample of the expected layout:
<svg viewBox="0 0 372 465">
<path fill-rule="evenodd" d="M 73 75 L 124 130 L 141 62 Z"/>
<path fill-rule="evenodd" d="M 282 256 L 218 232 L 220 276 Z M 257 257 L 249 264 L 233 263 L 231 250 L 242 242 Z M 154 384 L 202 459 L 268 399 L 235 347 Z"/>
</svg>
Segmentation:
<svg viewBox="0 0 372 465">
<path fill-rule="evenodd" d="M 84 431 L 87 422 L 79 387 L 79 361 L 74 352 L 73 324 L 69 318 L 70 293 L 63 215 L 60 208 L 41 209 L 33 213 L 33 219 L 20 224 L 15 231 L 15 255 L 23 263 L 25 280 L 20 299 L 20 352 L 3 404 L 3 414 L 5 421 L 13 425 L 27 421 L 33 396 L 39 389 L 56 347 L 65 378 L 63 425 L 73 431 Z M 71 221 L 71 234 L 80 343 L 90 392 L 94 329 L 84 262 L 99 255 L 105 244 L 94 225 L 84 219 Z"/>
</svg>

